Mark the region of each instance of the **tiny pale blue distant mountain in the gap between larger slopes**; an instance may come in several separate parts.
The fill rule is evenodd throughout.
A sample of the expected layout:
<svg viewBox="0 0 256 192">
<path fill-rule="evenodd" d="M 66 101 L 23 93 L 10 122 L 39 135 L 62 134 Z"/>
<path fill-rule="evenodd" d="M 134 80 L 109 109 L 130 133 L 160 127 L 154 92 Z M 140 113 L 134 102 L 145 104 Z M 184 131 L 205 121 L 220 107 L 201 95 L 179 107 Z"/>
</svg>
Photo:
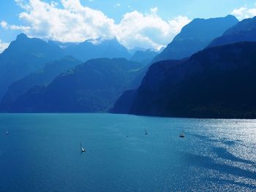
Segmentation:
<svg viewBox="0 0 256 192">
<path fill-rule="evenodd" d="M 149 64 L 153 58 L 155 58 L 158 55 L 157 50 L 138 50 L 132 58 L 130 58 L 130 61 L 135 61 L 140 64 L 144 64 L 145 66 Z"/>
</svg>

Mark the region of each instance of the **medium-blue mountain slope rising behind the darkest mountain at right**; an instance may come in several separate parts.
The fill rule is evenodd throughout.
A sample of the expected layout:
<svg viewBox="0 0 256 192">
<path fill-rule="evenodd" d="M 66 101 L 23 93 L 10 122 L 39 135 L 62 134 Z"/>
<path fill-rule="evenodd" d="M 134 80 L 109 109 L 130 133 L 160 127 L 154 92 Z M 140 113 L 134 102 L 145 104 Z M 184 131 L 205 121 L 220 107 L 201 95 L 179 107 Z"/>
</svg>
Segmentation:
<svg viewBox="0 0 256 192">
<path fill-rule="evenodd" d="M 203 50 L 213 39 L 221 36 L 238 20 L 233 15 L 225 18 L 195 19 L 181 29 L 181 32 L 152 61 L 182 59 Z"/>
</svg>

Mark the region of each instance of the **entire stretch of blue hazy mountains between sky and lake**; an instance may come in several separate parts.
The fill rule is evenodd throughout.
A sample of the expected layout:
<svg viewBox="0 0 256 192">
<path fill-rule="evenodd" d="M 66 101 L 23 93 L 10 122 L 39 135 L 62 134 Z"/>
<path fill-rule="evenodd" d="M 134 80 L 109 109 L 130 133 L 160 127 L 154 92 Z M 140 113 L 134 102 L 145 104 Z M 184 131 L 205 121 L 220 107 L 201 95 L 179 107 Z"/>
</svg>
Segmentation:
<svg viewBox="0 0 256 192">
<path fill-rule="evenodd" d="M 232 15 L 195 19 L 162 53 L 138 48 L 133 55 L 117 39 L 75 44 L 20 34 L 0 55 L 1 111 L 113 107 L 136 115 L 252 118 L 255 26 L 255 18 L 238 22 Z"/>
</svg>

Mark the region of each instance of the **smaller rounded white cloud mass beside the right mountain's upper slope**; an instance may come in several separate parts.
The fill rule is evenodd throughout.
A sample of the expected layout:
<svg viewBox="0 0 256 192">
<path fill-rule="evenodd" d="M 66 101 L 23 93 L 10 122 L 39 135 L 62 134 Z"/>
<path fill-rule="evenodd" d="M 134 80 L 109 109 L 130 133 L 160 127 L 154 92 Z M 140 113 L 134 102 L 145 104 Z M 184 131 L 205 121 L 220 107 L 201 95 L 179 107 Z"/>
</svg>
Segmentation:
<svg viewBox="0 0 256 192">
<path fill-rule="evenodd" d="M 189 21 L 181 16 L 162 20 L 156 9 L 151 9 L 151 13 L 146 15 L 133 11 L 125 14 L 118 24 L 117 37 L 127 47 L 159 48 L 167 45 Z"/>
</svg>

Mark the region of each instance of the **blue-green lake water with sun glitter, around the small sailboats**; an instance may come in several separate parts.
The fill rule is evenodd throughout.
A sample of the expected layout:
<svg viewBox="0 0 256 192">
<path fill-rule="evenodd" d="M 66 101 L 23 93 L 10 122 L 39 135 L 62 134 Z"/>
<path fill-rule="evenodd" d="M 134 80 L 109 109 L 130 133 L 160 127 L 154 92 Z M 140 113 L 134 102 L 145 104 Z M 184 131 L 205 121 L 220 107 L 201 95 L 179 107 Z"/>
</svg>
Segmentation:
<svg viewBox="0 0 256 192">
<path fill-rule="evenodd" d="M 1 114 L 0 191 L 256 191 L 256 120 Z"/>
</svg>

